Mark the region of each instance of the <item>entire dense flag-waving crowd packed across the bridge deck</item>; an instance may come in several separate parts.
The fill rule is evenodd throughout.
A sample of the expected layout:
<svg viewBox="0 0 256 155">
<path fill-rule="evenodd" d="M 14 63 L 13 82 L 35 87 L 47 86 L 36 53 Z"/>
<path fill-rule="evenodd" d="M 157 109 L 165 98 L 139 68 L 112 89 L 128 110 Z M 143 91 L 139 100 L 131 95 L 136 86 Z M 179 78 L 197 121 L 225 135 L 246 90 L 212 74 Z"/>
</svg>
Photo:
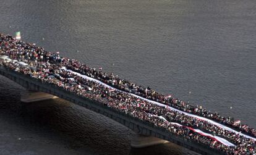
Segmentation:
<svg viewBox="0 0 256 155">
<path fill-rule="evenodd" d="M 200 107 L 189 106 L 179 99 L 164 96 L 150 88 L 143 88 L 135 83 L 122 80 L 121 78 L 115 77 L 113 73 L 104 73 L 101 70 L 92 69 L 78 61 L 60 57 L 58 53 L 46 52 L 43 48 L 15 40 L 12 36 L 1 34 L 0 43 L 0 54 L 28 64 L 23 66 L 14 61 L 0 62 L 9 69 L 30 75 L 30 77 L 37 78 L 42 82 L 59 86 L 67 91 L 79 94 L 80 96 L 93 99 L 105 104 L 105 106 L 112 107 L 118 111 L 132 115 L 133 117 L 137 117 L 138 119 L 150 122 L 157 127 L 165 128 L 176 135 L 204 143 L 224 153 L 256 153 L 256 142 L 252 138 L 246 138 L 241 134 L 231 132 L 218 125 L 198 119 L 197 117 L 173 111 L 168 107 L 166 108 L 166 106 L 153 104 L 149 101 L 132 96 L 130 93 L 236 127 L 233 125 L 233 121 L 225 119 L 216 113 L 211 114 Z M 116 89 L 83 78 L 78 73 L 100 80 Z M 180 125 L 173 124 L 173 122 Z M 241 129 L 243 132 L 250 133 L 250 135 L 256 135 L 254 128 L 249 128 L 247 125 L 246 127 L 242 126 L 244 125 L 240 124 L 237 128 Z M 226 146 L 220 143 L 220 141 L 216 141 L 215 138 L 193 132 L 193 130 L 190 130 L 191 128 L 199 128 L 204 132 L 223 137 L 231 141 L 235 146 Z"/>
</svg>

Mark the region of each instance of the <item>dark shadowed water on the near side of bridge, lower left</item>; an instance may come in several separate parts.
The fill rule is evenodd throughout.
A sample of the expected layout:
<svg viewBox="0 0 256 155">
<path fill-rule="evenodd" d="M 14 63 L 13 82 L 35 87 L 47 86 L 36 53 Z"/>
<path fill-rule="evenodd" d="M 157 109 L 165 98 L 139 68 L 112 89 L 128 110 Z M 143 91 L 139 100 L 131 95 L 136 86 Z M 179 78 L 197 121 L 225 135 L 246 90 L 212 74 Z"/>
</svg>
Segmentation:
<svg viewBox="0 0 256 155">
<path fill-rule="evenodd" d="M 0 78 L 3 154 L 18 154 L 20 149 L 23 154 L 54 154 L 56 149 L 62 154 L 195 154 L 173 143 L 130 148 L 135 133 L 114 120 L 63 99 L 20 103 L 23 88 Z M 17 138 L 29 147 L 21 148 Z"/>
</svg>

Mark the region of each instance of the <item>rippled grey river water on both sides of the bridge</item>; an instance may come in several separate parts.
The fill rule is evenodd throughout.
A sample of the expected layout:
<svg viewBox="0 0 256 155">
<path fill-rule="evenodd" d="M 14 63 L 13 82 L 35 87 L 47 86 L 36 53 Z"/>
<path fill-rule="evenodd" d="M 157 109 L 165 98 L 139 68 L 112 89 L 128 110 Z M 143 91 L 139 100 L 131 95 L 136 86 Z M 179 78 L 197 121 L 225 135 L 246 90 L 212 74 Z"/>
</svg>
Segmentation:
<svg viewBox="0 0 256 155">
<path fill-rule="evenodd" d="M 1 0 L 0 33 L 256 128 L 256 1 Z M 130 148 L 132 130 L 0 77 L 0 154 L 196 154 Z"/>
</svg>

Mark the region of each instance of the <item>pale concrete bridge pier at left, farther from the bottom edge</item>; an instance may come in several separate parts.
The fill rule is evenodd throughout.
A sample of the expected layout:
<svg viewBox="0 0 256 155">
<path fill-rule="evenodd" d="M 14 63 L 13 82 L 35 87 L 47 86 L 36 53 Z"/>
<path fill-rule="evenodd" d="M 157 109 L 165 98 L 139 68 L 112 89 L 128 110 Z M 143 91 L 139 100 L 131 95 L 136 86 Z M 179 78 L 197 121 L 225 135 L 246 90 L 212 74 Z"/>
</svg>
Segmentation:
<svg viewBox="0 0 256 155">
<path fill-rule="evenodd" d="M 30 91 L 30 90 L 20 93 L 20 101 L 22 101 L 23 103 L 33 103 L 33 102 L 44 101 L 44 100 L 53 99 L 53 98 L 58 98 L 58 97 L 48 93 Z"/>
</svg>

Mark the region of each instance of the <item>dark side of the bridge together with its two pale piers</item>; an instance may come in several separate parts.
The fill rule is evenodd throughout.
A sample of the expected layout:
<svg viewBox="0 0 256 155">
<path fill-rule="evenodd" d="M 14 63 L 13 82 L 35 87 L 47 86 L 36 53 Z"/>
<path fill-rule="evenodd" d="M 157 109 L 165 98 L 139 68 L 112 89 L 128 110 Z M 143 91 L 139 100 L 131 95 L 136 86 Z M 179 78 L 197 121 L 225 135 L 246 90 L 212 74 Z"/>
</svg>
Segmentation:
<svg viewBox="0 0 256 155">
<path fill-rule="evenodd" d="M 134 130 L 138 135 L 131 142 L 131 146 L 134 148 L 143 148 L 160 143 L 171 142 L 200 154 L 224 154 L 217 149 L 210 148 L 210 146 L 197 143 L 197 141 L 194 140 L 188 140 L 180 135 L 175 135 L 174 133 L 164 130 L 164 128 L 156 127 L 153 124 L 144 122 L 129 114 L 124 114 L 116 109 L 104 106 L 97 101 L 84 98 L 75 93 L 70 93 L 55 85 L 43 83 L 40 80 L 36 80 L 35 78 L 19 72 L 14 72 L 14 70 L 7 69 L 1 65 L 0 74 L 29 90 L 30 94 L 22 95 L 21 99 L 23 102 L 41 101 L 56 98 L 57 96 L 66 99 L 71 103 L 90 109 L 91 111 L 105 115 L 127 128 Z"/>
</svg>

